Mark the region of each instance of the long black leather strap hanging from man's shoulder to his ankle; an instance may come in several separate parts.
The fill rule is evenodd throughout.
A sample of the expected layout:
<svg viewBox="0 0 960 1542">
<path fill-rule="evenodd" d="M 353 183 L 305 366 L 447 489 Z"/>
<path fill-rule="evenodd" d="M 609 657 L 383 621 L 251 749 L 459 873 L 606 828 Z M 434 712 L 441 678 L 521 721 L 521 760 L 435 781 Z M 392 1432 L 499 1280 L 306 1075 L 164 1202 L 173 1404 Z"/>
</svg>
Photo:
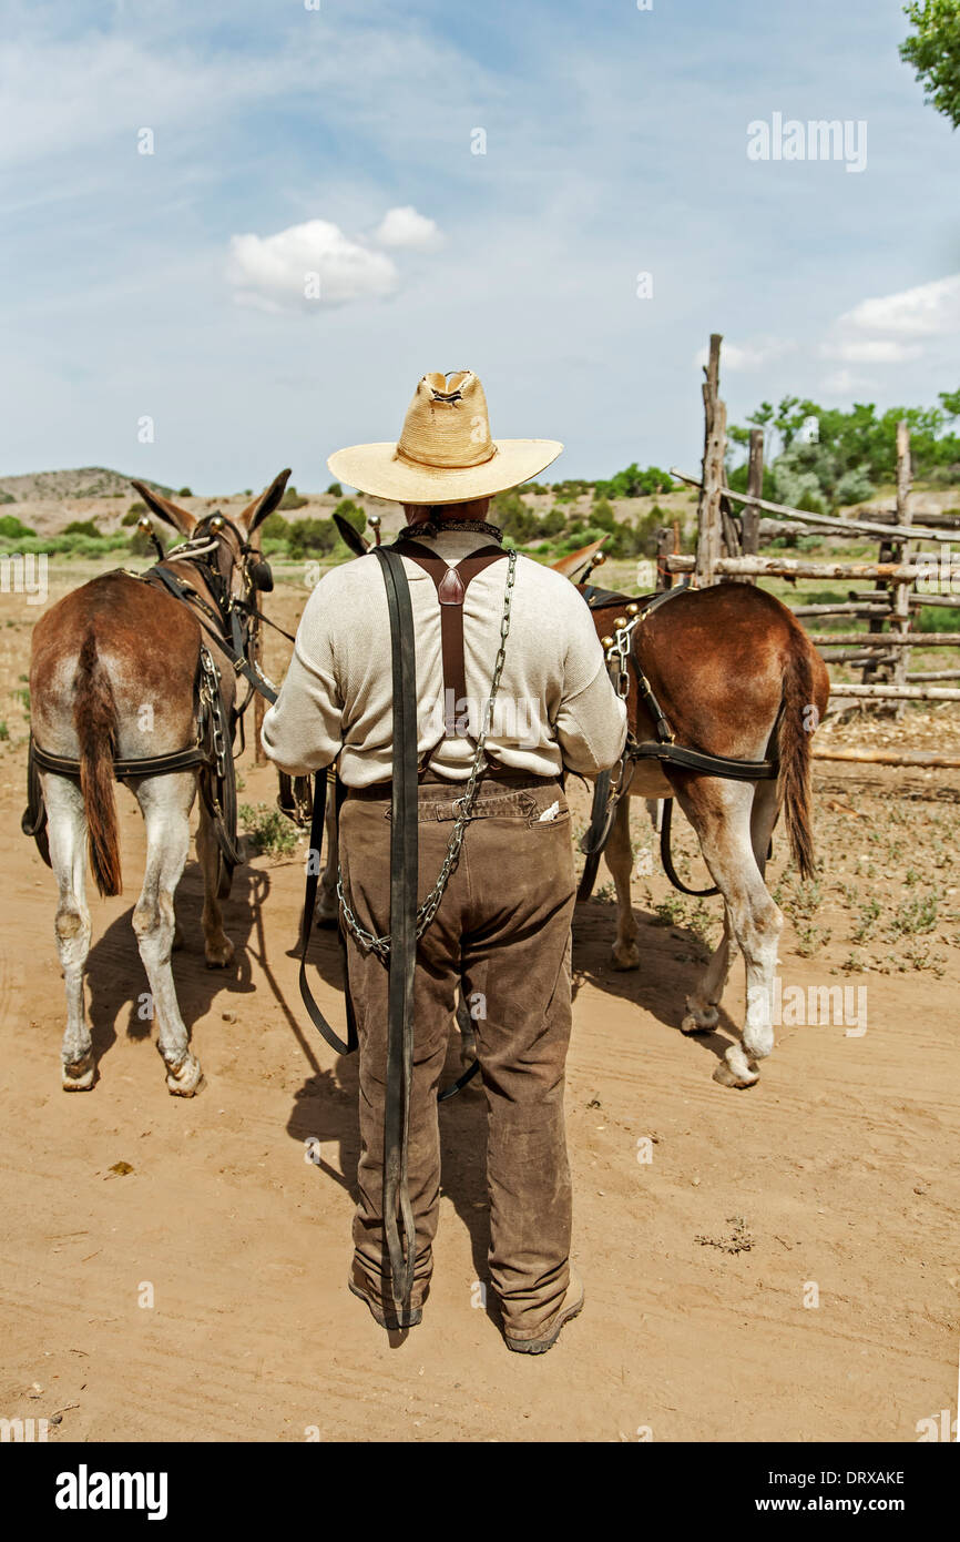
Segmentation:
<svg viewBox="0 0 960 1542">
<path fill-rule="evenodd" d="M 410 586 L 399 552 L 378 546 L 390 611 L 393 655 L 393 786 L 390 831 L 390 982 L 387 1098 L 384 1106 L 384 1232 L 393 1298 L 405 1326 L 416 1266 L 416 1227 L 407 1183 L 413 1081 L 413 975 L 416 968 L 418 754 L 416 645 Z M 399 1210 L 399 1218 L 398 1218 Z M 401 1237 L 402 1232 L 402 1237 Z"/>
</svg>

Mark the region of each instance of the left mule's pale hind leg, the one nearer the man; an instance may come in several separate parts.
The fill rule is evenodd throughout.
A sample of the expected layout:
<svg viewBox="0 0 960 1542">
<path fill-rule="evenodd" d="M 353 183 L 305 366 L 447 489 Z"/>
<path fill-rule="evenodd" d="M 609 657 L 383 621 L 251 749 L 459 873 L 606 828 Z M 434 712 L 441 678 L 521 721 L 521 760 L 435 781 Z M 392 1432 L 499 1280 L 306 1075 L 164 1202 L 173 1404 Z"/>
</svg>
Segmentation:
<svg viewBox="0 0 960 1542">
<path fill-rule="evenodd" d="M 190 851 L 193 771 L 143 777 L 134 788 L 146 827 L 146 871 L 134 910 L 134 931 L 149 981 L 157 1049 L 166 1064 L 166 1086 L 182 1098 L 200 1087 L 200 1062 L 190 1049 L 170 962 L 174 941 L 174 893 Z"/>
</svg>

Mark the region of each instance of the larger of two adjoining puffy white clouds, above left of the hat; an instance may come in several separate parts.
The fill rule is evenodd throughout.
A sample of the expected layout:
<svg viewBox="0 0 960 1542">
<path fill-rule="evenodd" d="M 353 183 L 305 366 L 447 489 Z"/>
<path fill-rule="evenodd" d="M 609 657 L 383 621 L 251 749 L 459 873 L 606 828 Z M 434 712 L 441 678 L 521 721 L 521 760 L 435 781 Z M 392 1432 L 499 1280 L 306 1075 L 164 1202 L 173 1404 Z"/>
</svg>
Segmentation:
<svg viewBox="0 0 960 1542">
<path fill-rule="evenodd" d="M 378 299 L 399 281 L 391 258 L 351 241 L 327 219 L 274 236 L 231 236 L 227 276 L 237 304 L 271 311 Z"/>
</svg>

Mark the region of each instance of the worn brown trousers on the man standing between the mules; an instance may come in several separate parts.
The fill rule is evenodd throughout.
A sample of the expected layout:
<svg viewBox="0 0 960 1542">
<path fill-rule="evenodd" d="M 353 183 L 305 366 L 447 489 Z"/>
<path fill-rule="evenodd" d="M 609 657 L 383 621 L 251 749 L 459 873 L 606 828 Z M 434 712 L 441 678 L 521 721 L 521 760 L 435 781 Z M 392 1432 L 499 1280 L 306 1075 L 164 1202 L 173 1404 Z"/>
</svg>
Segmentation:
<svg viewBox="0 0 960 1542">
<path fill-rule="evenodd" d="M 428 774 L 430 776 L 430 774 Z M 419 786 L 419 893 L 436 882 L 464 783 Z M 362 927 L 390 930 L 390 786 L 341 810 L 345 893 Z M 439 1217 L 436 1093 L 461 988 L 487 1096 L 490 1278 L 504 1328 L 536 1338 L 570 1274 L 564 1066 L 570 1038 L 570 813 L 558 780 L 485 776 L 459 864 L 418 947 L 408 1181 L 416 1220 L 413 1306 L 428 1289 Z M 391 1309 L 382 1223 L 387 965 L 348 934 L 361 1061 L 354 1278 Z"/>
</svg>

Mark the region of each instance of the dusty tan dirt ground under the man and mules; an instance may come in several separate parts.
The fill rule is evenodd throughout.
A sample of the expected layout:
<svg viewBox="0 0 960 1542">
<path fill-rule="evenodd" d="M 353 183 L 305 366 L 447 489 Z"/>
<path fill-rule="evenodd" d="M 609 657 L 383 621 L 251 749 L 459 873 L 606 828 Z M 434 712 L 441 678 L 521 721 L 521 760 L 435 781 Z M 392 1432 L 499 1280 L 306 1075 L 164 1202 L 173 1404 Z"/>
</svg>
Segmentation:
<svg viewBox="0 0 960 1542">
<path fill-rule="evenodd" d="M 302 601 L 284 589 L 271 614 L 290 625 Z M 299 1002 L 302 845 L 237 871 L 225 973 L 203 967 L 199 870 L 186 870 L 176 978 L 206 1086 L 180 1101 L 137 1016 L 143 834 L 119 793 L 125 893 L 91 902 L 100 1079 L 60 1090 L 54 890 L 18 830 L 15 692 L 35 618 L 5 597 L 2 1416 L 59 1414 L 59 1440 L 590 1442 L 915 1440 L 918 1420 L 955 1416 L 960 773 L 818 768 L 818 884 L 797 884 L 780 840 L 770 868 L 789 916 L 783 979 L 866 985 L 868 1032 L 784 1025 L 747 1092 L 710 1079 L 741 1019 L 740 965 L 718 1032 L 678 1030 L 718 902 L 644 871 L 653 845 L 636 805 L 641 968 L 609 965 L 603 888 L 576 921 L 567 1115 L 584 1314 L 527 1360 L 484 1311 L 484 1104 L 468 1090 L 441 1112 L 424 1325 L 391 1345 L 345 1289 L 356 1067 Z M 282 675 L 273 640 L 267 668 Z M 955 731 L 942 714 L 931 732 L 945 723 Z M 926 731 L 908 725 L 905 742 Z M 841 732 L 854 742 L 857 726 Z M 271 805 L 274 777 L 250 759 L 242 800 Z M 330 933 L 314 962 L 342 1021 Z"/>
</svg>

